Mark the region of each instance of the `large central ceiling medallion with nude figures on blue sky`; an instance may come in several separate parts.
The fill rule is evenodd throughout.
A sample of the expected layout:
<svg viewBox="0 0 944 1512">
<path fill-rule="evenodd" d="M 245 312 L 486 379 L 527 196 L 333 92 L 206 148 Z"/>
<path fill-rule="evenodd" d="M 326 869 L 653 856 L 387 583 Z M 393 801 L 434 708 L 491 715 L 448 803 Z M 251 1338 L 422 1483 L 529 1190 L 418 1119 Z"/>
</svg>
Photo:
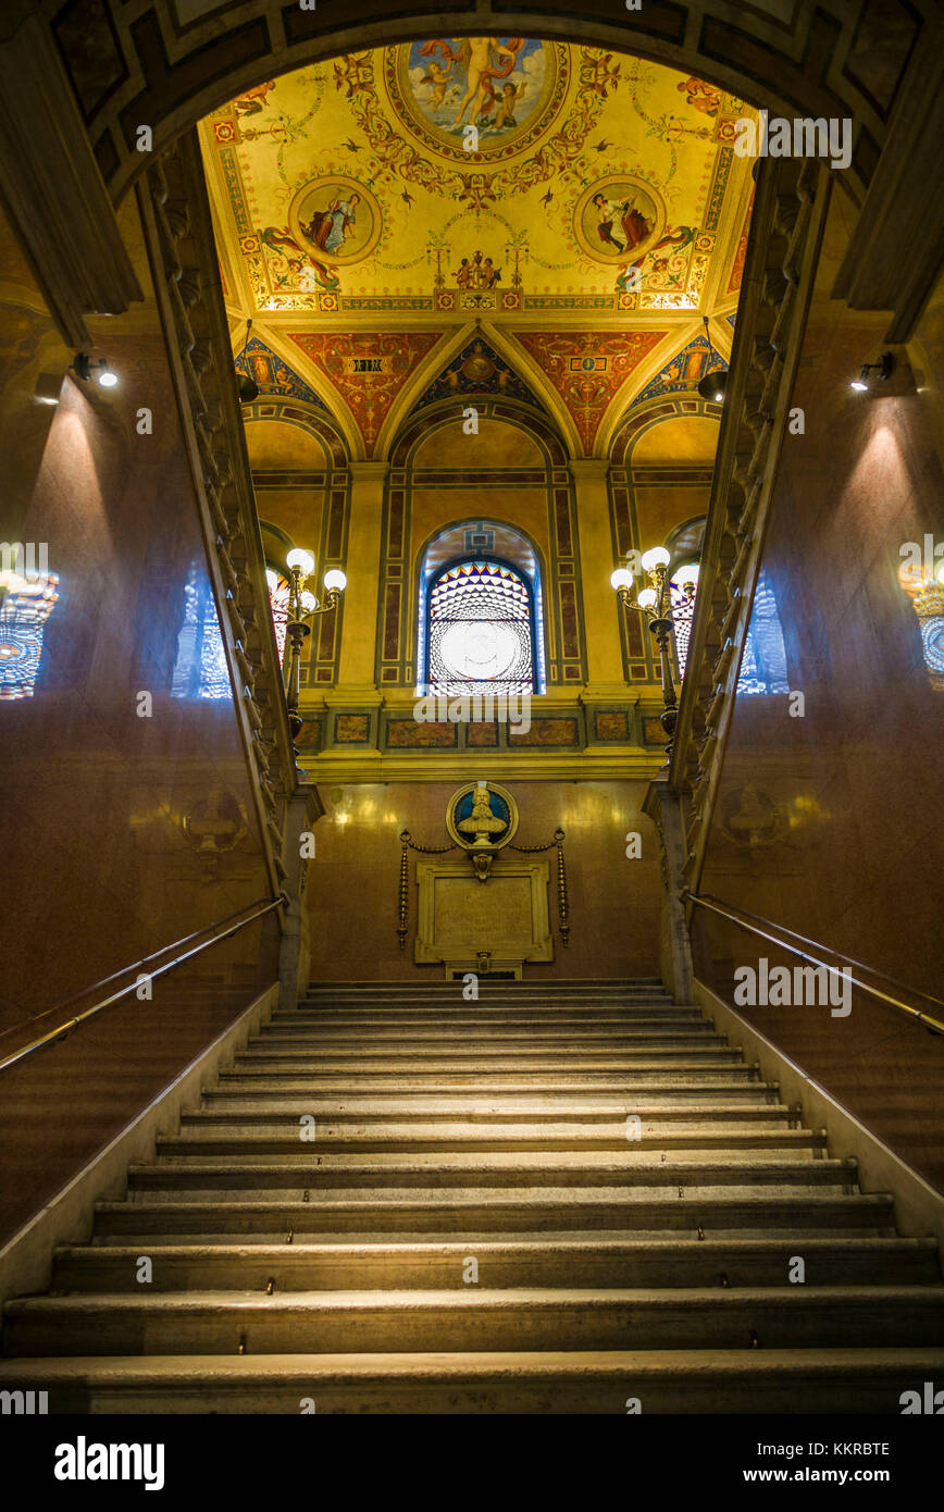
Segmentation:
<svg viewBox="0 0 944 1512">
<path fill-rule="evenodd" d="M 567 79 L 561 42 L 520 36 L 439 36 L 384 54 L 387 92 L 405 129 L 466 163 L 531 147 L 560 110 Z M 469 125 L 478 130 L 474 147 Z"/>
</svg>

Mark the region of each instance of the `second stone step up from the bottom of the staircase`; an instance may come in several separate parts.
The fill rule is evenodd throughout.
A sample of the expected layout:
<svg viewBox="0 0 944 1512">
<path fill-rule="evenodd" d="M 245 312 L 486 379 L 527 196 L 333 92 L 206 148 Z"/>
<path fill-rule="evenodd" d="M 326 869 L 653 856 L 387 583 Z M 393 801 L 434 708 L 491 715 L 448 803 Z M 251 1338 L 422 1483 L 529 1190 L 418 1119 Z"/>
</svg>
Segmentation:
<svg viewBox="0 0 944 1512">
<path fill-rule="evenodd" d="M 21 1297 L 14 1355 L 944 1346 L 944 1287 L 191 1291 Z"/>
</svg>

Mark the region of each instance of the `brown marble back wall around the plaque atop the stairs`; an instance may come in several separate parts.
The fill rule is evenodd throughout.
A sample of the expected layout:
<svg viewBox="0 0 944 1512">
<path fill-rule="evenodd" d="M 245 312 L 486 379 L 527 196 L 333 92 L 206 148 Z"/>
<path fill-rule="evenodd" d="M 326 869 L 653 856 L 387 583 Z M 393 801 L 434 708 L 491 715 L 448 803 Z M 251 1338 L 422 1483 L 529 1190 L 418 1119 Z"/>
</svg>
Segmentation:
<svg viewBox="0 0 944 1512">
<path fill-rule="evenodd" d="M 519 803 L 516 839 L 522 845 L 545 844 L 558 826 L 566 832 L 570 945 L 563 950 L 557 937 L 555 853 L 549 851 L 555 960 L 526 966 L 526 978 L 658 975 L 658 845 L 640 807 L 646 783 L 516 782 L 499 770 L 495 780 Z M 408 829 L 419 845 L 448 845 L 446 803 L 458 786 L 392 782 L 319 788 L 325 816 L 315 830 L 316 857 L 307 883 L 315 981 L 443 978 L 442 966 L 413 963 L 416 853 L 410 854 L 410 934 L 407 948 L 398 948 L 398 835 Z M 626 857 L 628 832 L 641 835 L 638 859 Z"/>
</svg>

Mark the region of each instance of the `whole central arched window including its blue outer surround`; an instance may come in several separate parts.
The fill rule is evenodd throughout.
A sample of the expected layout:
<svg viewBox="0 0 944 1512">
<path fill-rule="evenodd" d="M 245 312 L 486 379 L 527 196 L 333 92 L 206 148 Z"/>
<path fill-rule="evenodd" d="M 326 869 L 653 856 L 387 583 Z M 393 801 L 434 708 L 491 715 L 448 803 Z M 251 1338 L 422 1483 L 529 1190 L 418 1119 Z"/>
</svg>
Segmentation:
<svg viewBox="0 0 944 1512">
<path fill-rule="evenodd" d="M 542 692 L 540 573 L 511 526 L 451 526 L 421 562 L 418 683 L 439 697 Z"/>
</svg>

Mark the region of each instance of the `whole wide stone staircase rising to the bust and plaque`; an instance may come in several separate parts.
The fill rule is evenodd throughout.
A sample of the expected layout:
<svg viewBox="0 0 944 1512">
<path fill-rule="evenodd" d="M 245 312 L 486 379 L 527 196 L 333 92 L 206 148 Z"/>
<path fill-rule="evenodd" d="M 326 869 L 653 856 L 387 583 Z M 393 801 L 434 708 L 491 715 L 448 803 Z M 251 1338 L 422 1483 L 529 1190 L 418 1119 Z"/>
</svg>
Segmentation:
<svg viewBox="0 0 944 1512">
<path fill-rule="evenodd" d="M 897 1414 L 944 1383 L 944 1285 L 658 983 L 342 984 L 236 1054 L 2 1347 L 53 1412 Z"/>
</svg>

